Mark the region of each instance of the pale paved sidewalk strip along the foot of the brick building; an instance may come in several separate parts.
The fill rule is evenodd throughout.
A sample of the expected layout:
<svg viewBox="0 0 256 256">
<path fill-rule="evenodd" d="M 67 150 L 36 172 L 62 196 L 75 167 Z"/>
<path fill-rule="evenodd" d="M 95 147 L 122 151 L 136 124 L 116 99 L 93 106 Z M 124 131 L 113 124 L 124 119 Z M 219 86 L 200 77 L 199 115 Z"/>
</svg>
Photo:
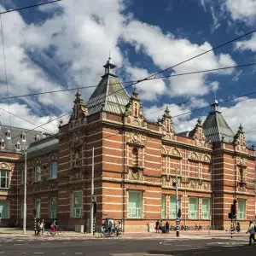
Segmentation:
<svg viewBox="0 0 256 256">
<path fill-rule="evenodd" d="M 180 231 L 179 238 L 181 239 L 207 239 L 207 238 L 230 238 L 230 233 L 224 230 L 200 230 L 200 231 Z M 15 228 L 0 228 L 0 237 L 11 236 L 11 237 L 43 237 L 35 236 L 34 230 L 26 230 L 26 235 L 23 234 L 22 229 Z M 234 238 L 247 236 L 245 232 L 233 234 Z M 44 236 L 45 237 L 45 236 Z M 91 239 L 95 238 L 91 234 L 84 234 L 74 231 L 64 231 L 64 235 L 60 236 L 63 239 Z M 171 231 L 169 234 L 160 234 L 155 232 L 144 232 L 144 233 L 125 233 L 119 238 L 126 239 L 179 239 L 176 236 L 175 231 Z"/>
</svg>

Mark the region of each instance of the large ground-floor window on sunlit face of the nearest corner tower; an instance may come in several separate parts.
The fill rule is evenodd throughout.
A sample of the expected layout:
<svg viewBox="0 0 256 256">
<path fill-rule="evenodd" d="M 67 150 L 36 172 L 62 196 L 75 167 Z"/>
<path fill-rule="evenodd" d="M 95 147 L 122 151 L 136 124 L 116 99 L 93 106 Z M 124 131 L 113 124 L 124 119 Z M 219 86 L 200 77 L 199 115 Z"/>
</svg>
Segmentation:
<svg viewBox="0 0 256 256">
<path fill-rule="evenodd" d="M 129 191 L 128 218 L 143 218 L 143 192 Z"/>
</svg>

